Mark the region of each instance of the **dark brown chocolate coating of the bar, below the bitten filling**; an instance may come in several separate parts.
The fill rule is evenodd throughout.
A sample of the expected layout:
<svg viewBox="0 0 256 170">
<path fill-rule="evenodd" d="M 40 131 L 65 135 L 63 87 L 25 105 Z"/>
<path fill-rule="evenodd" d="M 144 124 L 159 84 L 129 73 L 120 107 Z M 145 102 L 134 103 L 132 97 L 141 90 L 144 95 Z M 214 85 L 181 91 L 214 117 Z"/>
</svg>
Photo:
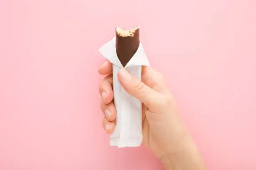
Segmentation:
<svg viewBox="0 0 256 170">
<path fill-rule="evenodd" d="M 116 37 L 116 54 L 123 65 L 125 65 L 131 60 L 133 55 L 138 50 L 140 45 L 140 30 L 139 28 L 133 33 L 133 36 L 122 37 L 115 32 Z"/>
</svg>

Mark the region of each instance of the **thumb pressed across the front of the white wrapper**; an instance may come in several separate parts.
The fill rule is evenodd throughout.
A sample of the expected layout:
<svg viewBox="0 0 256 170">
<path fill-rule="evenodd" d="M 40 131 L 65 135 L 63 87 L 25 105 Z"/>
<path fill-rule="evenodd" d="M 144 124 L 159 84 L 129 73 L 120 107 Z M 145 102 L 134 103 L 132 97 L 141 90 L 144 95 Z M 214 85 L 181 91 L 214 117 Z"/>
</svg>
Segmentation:
<svg viewBox="0 0 256 170">
<path fill-rule="evenodd" d="M 164 99 L 161 93 L 156 92 L 132 76 L 125 68 L 118 72 L 118 80 L 126 92 L 141 100 L 149 109 L 154 110 L 154 107 L 159 106 Z"/>
</svg>

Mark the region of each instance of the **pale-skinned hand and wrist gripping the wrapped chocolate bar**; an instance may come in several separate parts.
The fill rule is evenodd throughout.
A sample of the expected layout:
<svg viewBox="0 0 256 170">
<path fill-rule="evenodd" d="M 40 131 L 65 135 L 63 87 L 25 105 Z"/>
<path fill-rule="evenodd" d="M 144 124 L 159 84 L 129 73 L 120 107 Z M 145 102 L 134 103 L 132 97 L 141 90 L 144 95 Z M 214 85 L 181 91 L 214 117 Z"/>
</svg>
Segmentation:
<svg viewBox="0 0 256 170">
<path fill-rule="evenodd" d="M 105 61 L 98 72 L 105 75 L 99 85 L 102 126 L 110 134 L 115 129 L 112 64 Z M 132 96 L 141 100 L 143 144 L 161 160 L 164 170 L 206 170 L 194 140 L 185 127 L 164 77 L 152 67 L 142 67 L 142 80 L 124 68 L 118 80 Z"/>
</svg>

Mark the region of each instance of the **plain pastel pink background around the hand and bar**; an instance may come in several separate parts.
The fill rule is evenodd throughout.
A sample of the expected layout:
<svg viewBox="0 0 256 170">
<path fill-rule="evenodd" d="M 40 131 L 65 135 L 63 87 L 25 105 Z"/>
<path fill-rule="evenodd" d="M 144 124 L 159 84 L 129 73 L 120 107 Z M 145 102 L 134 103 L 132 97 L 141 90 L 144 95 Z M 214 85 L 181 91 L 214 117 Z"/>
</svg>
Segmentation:
<svg viewBox="0 0 256 170">
<path fill-rule="evenodd" d="M 141 26 L 208 170 L 256 169 L 255 0 L 0 0 L 0 170 L 157 170 L 101 126 L 98 48 Z"/>
</svg>

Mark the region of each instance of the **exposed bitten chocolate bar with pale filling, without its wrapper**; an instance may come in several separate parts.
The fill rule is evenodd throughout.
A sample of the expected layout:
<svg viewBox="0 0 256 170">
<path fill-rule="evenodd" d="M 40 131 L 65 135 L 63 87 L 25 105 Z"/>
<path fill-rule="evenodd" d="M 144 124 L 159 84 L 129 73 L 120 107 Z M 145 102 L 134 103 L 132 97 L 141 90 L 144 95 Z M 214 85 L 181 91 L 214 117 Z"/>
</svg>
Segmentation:
<svg viewBox="0 0 256 170">
<path fill-rule="evenodd" d="M 135 27 L 131 30 L 123 30 L 116 27 L 116 54 L 123 67 L 131 60 L 140 45 L 140 29 Z"/>
</svg>

